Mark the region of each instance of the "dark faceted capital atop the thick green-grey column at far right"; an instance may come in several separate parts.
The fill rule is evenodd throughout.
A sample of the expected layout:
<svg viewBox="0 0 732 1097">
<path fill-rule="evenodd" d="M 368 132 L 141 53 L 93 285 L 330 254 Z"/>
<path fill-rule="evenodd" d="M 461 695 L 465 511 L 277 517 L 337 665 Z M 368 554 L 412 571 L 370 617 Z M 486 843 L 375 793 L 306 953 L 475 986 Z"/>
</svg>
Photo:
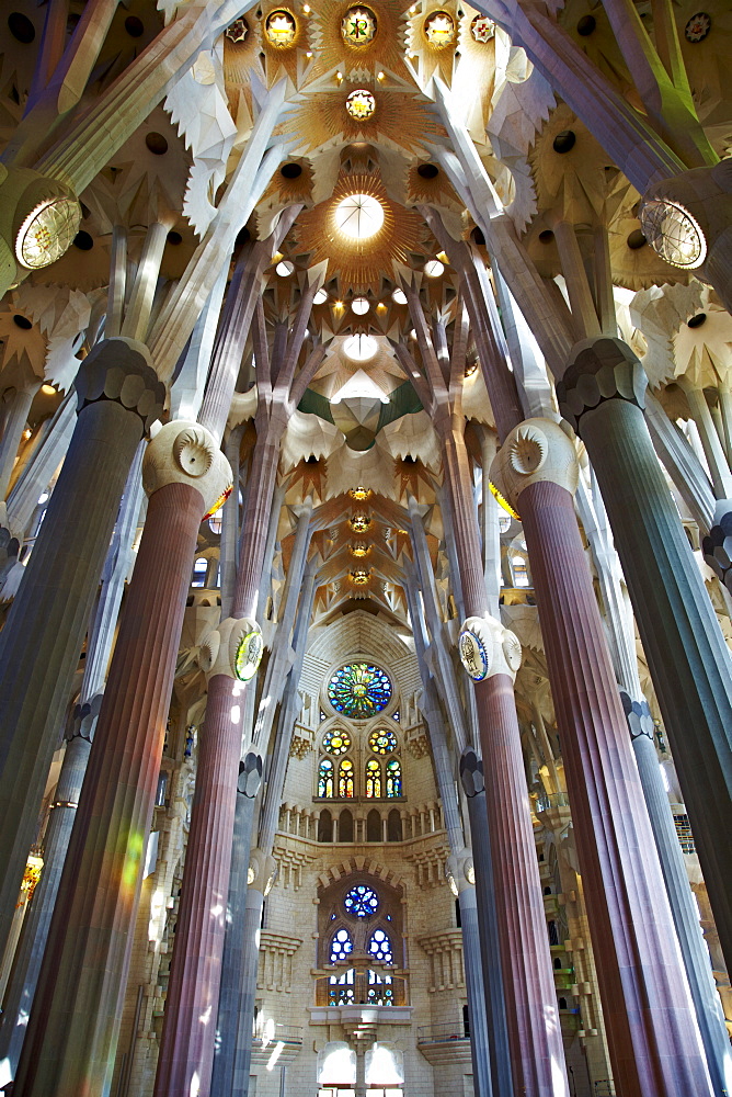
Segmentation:
<svg viewBox="0 0 732 1097">
<path fill-rule="evenodd" d="M 570 353 L 570 363 L 557 382 L 559 410 L 577 431 L 586 411 L 606 400 L 627 400 L 645 407 L 648 377 L 638 357 L 621 339 L 583 339 Z"/>
</svg>

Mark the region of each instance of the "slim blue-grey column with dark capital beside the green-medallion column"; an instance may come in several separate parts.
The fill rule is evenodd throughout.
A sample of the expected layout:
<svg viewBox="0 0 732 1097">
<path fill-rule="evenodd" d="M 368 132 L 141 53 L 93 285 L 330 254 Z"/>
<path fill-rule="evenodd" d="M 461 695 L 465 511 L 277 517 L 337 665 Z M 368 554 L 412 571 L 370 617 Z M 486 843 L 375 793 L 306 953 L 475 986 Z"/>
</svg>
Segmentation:
<svg viewBox="0 0 732 1097">
<path fill-rule="evenodd" d="M 211 1097 L 231 1097 L 237 1058 L 237 1032 L 241 1016 L 243 971 L 247 966 L 245 935 L 249 890 L 249 853 L 252 846 L 256 794 L 262 782 L 262 759 L 249 751 L 239 764 L 237 808 L 231 844 L 231 872 L 227 909 L 227 934 L 224 942 L 221 985 L 217 1016 L 217 1050 L 211 1074 Z M 258 925 L 259 928 L 259 925 Z M 255 949 L 259 957 L 259 949 Z M 256 975 L 254 977 L 256 985 Z M 251 1034 L 251 1018 L 249 1031 Z M 251 1043 L 251 1039 L 250 1039 Z M 247 1072 L 249 1077 L 249 1070 Z"/>
</svg>

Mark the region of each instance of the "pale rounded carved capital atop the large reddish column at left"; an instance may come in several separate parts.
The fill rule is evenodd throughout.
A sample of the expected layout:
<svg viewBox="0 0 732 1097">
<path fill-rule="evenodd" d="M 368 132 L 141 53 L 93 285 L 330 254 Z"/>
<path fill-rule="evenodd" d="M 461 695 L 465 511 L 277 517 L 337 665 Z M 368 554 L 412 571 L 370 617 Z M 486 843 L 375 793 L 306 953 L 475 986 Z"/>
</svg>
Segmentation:
<svg viewBox="0 0 732 1097">
<path fill-rule="evenodd" d="M 205 427 L 175 419 L 152 439 L 142 461 L 142 486 L 150 496 L 167 484 L 195 487 L 204 512 L 231 485 L 231 466 Z"/>
</svg>

